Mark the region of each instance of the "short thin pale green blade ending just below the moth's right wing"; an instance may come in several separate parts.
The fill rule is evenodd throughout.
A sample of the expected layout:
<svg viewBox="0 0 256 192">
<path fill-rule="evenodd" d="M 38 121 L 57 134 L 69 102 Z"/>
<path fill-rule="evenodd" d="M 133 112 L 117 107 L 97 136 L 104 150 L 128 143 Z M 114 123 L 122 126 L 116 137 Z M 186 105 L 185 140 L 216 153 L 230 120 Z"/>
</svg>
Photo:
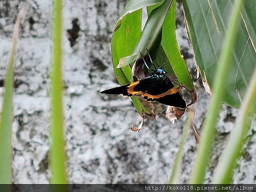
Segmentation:
<svg viewBox="0 0 256 192">
<path fill-rule="evenodd" d="M 183 151 L 184 151 L 184 145 L 186 142 L 186 139 L 188 137 L 188 132 L 189 132 L 189 127 L 191 124 L 191 115 L 189 113 L 189 117 L 186 121 L 186 125 L 183 128 L 183 133 L 181 136 L 181 140 L 180 140 L 180 145 L 172 166 L 172 173 L 169 177 L 168 183 L 169 184 L 177 184 L 180 182 L 180 170 L 181 170 L 181 165 L 182 165 L 182 158 L 183 158 Z"/>
</svg>

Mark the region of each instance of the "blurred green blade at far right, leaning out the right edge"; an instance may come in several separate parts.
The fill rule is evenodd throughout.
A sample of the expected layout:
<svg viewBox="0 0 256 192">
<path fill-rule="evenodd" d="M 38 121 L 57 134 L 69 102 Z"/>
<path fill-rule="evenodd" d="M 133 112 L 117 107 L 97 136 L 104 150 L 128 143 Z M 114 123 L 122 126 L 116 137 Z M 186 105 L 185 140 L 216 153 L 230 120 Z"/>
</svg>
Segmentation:
<svg viewBox="0 0 256 192">
<path fill-rule="evenodd" d="M 230 183 L 230 177 L 232 178 L 236 161 L 241 156 L 241 149 L 246 141 L 245 137 L 249 131 L 247 120 L 250 114 L 250 108 L 252 107 L 252 103 L 255 102 L 254 98 L 256 97 L 256 68 L 252 77 L 244 101 L 242 102 L 241 109 L 237 115 L 235 128 L 233 129 L 230 135 L 230 140 L 221 155 L 212 183 Z"/>
</svg>

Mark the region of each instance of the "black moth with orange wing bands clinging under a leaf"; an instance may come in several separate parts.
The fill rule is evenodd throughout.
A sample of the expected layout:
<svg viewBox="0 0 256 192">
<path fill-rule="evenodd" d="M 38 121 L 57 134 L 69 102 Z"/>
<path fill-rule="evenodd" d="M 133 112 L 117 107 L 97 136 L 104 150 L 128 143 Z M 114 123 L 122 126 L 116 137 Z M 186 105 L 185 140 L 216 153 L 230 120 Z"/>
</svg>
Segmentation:
<svg viewBox="0 0 256 192">
<path fill-rule="evenodd" d="M 145 59 L 143 58 L 145 66 L 148 68 L 149 72 L 151 72 L 149 76 L 131 84 L 103 90 L 99 93 L 111 95 L 121 94 L 122 96 L 128 97 L 143 96 L 143 98 L 148 102 L 159 102 L 164 105 L 185 109 L 186 102 L 180 95 L 177 88 L 172 84 L 172 80 L 167 76 L 166 71 L 162 68 L 165 63 L 157 68 L 155 67 L 150 55 L 149 58 L 154 66 L 154 70 L 149 69 Z"/>
</svg>

